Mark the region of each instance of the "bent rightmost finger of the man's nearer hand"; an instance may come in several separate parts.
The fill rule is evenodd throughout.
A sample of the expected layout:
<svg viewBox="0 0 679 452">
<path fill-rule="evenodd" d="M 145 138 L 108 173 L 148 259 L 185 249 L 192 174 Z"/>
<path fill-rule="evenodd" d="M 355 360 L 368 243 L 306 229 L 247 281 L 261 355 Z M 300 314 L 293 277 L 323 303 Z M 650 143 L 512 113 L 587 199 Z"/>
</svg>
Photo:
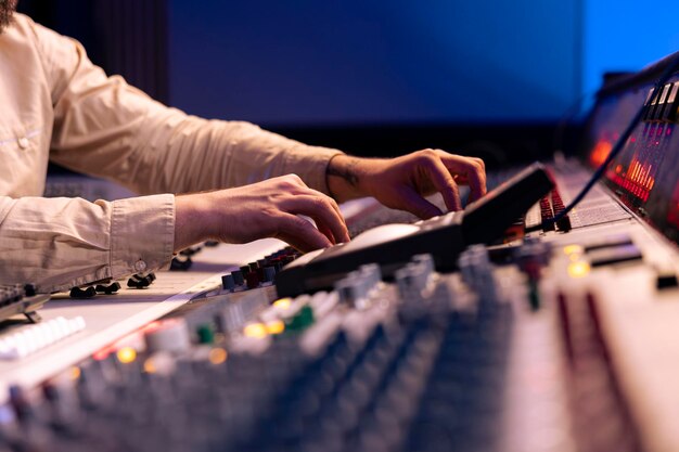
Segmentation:
<svg viewBox="0 0 679 452">
<path fill-rule="evenodd" d="M 338 209 L 332 207 L 331 198 L 312 195 L 290 197 L 279 206 L 290 214 L 300 214 L 311 217 L 317 225 L 332 243 L 348 242 L 349 231 Z"/>
</svg>

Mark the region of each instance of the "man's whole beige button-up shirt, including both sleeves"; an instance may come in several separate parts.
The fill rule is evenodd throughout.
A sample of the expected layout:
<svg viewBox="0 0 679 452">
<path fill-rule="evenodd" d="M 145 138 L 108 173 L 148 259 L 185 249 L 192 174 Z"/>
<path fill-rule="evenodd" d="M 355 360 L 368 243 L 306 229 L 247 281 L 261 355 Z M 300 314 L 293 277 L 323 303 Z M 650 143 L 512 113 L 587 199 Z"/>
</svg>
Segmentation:
<svg viewBox="0 0 679 452">
<path fill-rule="evenodd" d="M 291 172 L 328 193 L 340 153 L 169 108 L 22 14 L 0 35 L 0 283 L 41 292 L 166 266 L 175 193 Z M 43 198 L 48 160 L 146 196 Z"/>
</svg>

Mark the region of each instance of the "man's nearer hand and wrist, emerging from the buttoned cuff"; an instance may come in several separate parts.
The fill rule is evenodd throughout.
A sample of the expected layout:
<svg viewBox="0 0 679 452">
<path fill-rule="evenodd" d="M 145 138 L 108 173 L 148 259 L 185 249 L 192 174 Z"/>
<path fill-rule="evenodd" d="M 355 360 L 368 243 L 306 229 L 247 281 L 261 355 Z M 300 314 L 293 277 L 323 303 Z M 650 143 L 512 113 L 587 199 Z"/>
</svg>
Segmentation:
<svg viewBox="0 0 679 452">
<path fill-rule="evenodd" d="M 303 251 L 348 242 L 337 203 L 295 175 L 176 197 L 175 251 L 197 242 L 281 238 Z M 299 215 L 310 217 L 316 229 Z"/>
</svg>

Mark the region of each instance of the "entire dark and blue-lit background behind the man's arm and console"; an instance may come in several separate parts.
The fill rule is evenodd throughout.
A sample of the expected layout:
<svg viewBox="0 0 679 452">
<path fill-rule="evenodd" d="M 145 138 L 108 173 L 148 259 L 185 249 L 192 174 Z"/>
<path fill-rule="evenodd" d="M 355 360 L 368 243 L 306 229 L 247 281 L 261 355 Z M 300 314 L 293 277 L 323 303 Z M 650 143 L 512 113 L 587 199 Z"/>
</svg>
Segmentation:
<svg viewBox="0 0 679 452">
<path fill-rule="evenodd" d="M 679 49 L 679 5 L 653 1 L 21 0 L 18 9 L 188 113 L 358 155 L 441 147 L 489 167 L 572 150 L 578 121 L 564 129 L 563 119 L 605 72 Z"/>
</svg>

